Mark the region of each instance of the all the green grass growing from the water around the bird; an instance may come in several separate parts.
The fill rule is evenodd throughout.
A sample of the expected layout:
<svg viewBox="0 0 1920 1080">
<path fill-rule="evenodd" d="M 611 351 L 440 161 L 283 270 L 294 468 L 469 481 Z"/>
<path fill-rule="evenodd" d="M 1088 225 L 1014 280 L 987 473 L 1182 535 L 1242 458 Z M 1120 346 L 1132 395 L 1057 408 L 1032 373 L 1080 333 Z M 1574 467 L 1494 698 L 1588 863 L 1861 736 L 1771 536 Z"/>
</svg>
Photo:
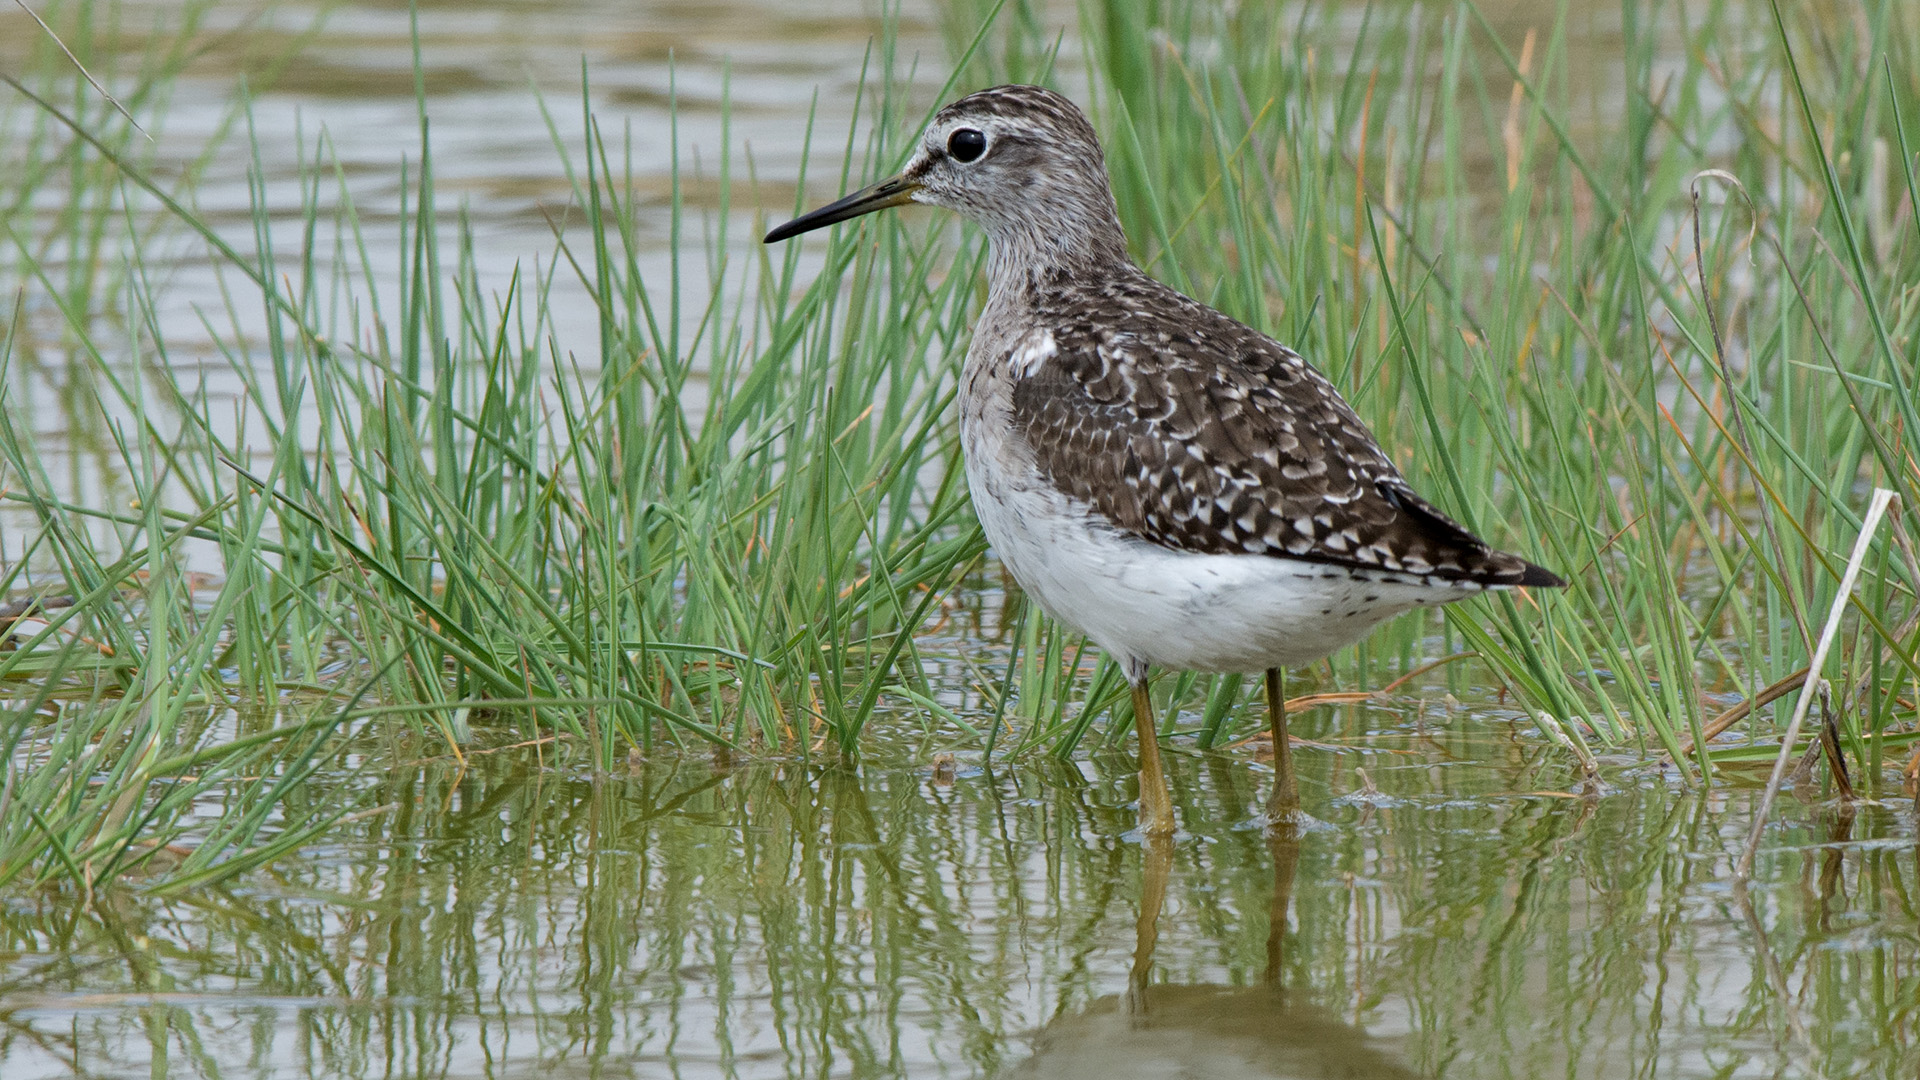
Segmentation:
<svg viewBox="0 0 1920 1080">
<path fill-rule="evenodd" d="M 1298 346 L 1415 486 L 1572 578 L 1402 619 L 1300 686 L 1473 651 L 1430 678 L 1498 682 L 1584 761 L 1634 748 L 1707 774 L 1747 751 L 1705 721 L 1807 663 L 1880 484 L 1897 527 L 1820 673 L 1880 782 L 1920 686 L 1910 10 L 1628 2 L 1601 52 L 1565 6 L 1509 27 L 1471 4 L 1089 0 L 1071 38 L 1000 8 L 950 8 L 952 88 L 1058 73 L 1106 136 L 1142 265 Z M 192 19 L 131 73 L 90 48 L 100 17 L 48 21 L 163 129 Z M 0 117 L 0 486 L 31 527 L 0 538 L 0 590 L 56 580 L 75 603 L 0 653 L 23 807 L 0 815 L 0 878 L 92 882 L 180 836 L 194 853 L 161 888 L 240 872 L 348 809 L 282 813 L 371 717 L 455 755 L 476 726 L 563 734 L 599 769 L 660 744 L 852 757 L 883 705 L 987 753 L 1085 749 L 1127 705 L 1077 636 L 1014 617 L 1006 667 L 958 684 L 922 655 L 981 567 L 948 407 L 979 238 L 885 215 L 824 258 L 756 244 L 804 192 L 904 156 L 939 104 L 904 67 L 881 37 L 835 183 L 801 177 L 764 215 L 743 213 L 770 188 L 730 138 L 718 206 L 676 181 L 655 209 L 634 138 L 553 106 L 572 200 L 490 292 L 436 190 L 424 85 L 396 161 L 401 259 L 376 267 L 326 133 L 298 208 L 257 142 L 209 146 L 255 156 L 240 236 L 58 50 L 29 58 Z M 664 275 L 643 271 L 657 221 Z M 211 357 L 161 331 L 182 250 L 223 275 Z M 555 325 L 566 281 L 591 340 Z M 207 359 L 244 388 L 232 415 Z M 36 444 L 46 371 L 71 375 L 63 423 L 98 436 L 86 496 L 58 475 L 73 455 Z M 1231 676 L 1156 690 L 1162 730 L 1202 748 L 1258 728 L 1254 700 Z M 211 830 L 196 799 L 225 799 Z"/>
</svg>

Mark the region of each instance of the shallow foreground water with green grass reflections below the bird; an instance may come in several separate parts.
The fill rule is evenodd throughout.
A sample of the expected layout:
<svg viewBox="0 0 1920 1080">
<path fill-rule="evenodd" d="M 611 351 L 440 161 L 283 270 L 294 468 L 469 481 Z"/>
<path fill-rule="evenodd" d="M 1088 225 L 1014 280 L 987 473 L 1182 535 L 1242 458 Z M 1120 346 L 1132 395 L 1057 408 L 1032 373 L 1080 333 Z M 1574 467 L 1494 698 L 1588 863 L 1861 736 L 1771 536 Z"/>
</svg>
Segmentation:
<svg viewBox="0 0 1920 1080">
<path fill-rule="evenodd" d="M 1488 715 L 1250 749 L 593 778 L 551 746 L 321 784 L 372 811 L 244 888 L 0 911 L 0 1072 L 52 1076 L 1910 1076 L 1910 807 L 1657 771 L 1582 796 Z M 1340 744 L 1340 746 L 1334 746 Z M 422 748 L 432 753 L 432 748 Z M 931 749 L 937 749 L 931 748 Z M 388 753 L 407 757 L 405 746 Z M 1373 790 L 1367 790 L 1365 778 Z"/>
</svg>

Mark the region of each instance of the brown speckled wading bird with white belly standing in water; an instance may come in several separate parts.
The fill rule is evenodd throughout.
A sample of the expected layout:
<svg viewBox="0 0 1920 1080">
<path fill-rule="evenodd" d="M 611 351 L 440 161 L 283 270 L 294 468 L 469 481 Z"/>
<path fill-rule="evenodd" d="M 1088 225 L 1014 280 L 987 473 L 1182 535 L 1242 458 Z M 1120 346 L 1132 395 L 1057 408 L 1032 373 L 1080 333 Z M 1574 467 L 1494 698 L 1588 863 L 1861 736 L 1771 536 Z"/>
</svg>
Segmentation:
<svg viewBox="0 0 1920 1080">
<path fill-rule="evenodd" d="M 1146 277 L 1068 98 L 960 98 L 897 177 L 766 242 L 908 202 L 987 231 L 960 375 L 973 509 L 1027 596 L 1125 671 L 1146 836 L 1173 832 L 1150 667 L 1265 673 L 1283 822 L 1300 807 L 1283 667 L 1415 607 L 1565 584 L 1417 496 L 1300 354 Z"/>
</svg>

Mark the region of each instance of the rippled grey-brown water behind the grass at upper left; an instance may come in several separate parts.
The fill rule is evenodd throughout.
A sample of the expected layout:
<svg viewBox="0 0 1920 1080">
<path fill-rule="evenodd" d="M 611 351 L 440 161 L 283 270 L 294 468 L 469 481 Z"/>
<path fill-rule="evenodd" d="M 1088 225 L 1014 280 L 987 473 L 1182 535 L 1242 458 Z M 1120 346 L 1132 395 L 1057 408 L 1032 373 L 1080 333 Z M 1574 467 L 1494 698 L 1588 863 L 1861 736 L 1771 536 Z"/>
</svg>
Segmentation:
<svg viewBox="0 0 1920 1080">
<path fill-rule="evenodd" d="M 860 88 L 877 77 L 874 50 L 889 25 L 900 56 L 895 79 L 931 102 L 947 50 L 931 4 L 889 8 L 893 15 L 883 19 L 864 0 L 808 2 L 804 10 L 764 0 L 420 4 L 420 85 L 447 242 L 457 229 L 470 229 L 474 273 L 486 296 L 505 296 L 515 275 L 551 273 L 543 307 L 555 348 L 593 369 L 599 315 L 589 290 L 570 271 L 553 273 L 557 234 L 570 231 L 580 240 L 584 233 L 568 177 L 570 167 L 584 169 L 582 110 L 597 117 L 612 160 L 634 165 L 639 271 L 659 284 L 684 263 L 687 281 L 705 288 L 710 258 L 732 254 L 739 261 L 756 246 L 749 219 L 762 204 L 780 208 L 770 215 L 795 206 L 810 123 L 818 131 L 816 156 L 831 148 L 814 160 L 816 188 L 831 190 L 837 148 L 854 123 Z M 313 254 L 323 263 L 340 258 L 351 279 L 351 298 L 323 304 L 321 329 L 336 338 L 371 338 L 376 311 L 399 307 L 403 221 L 411 213 L 405 200 L 420 167 L 409 4 L 117 0 L 90 10 L 96 25 L 84 38 L 71 13 L 50 19 L 75 38 L 69 44 L 90 58 L 90 71 L 106 86 L 136 102 L 152 140 L 132 138 L 129 154 L 165 188 L 182 190 L 196 213 L 242 252 L 257 248 L 257 179 L 265 234 L 296 277 L 309 244 L 303 196 L 311 188 L 323 208 Z M 188 12 L 196 13 L 186 38 L 192 61 L 157 104 L 138 108 L 142 58 L 173 40 Z M 0 8 L 0 65 L 19 71 L 40 38 L 25 12 Z M 48 92 L 61 98 L 63 90 Z M 44 117 L 12 90 L 6 94 L 0 146 L 15 138 L 25 144 Z M 119 123 L 106 108 L 100 117 L 102 125 Z M 209 154 L 209 146 L 217 152 Z M 676 258 L 668 231 L 676 190 L 689 217 L 712 211 L 722 198 L 722 154 L 732 154 L 735 177 L 753 177 L 751 184 L 735 179 L 737 221 L 720 244 L 710 231 L 689 225 Z M 359 248 L 336 250 L 328 238 L 326 219 L 342 194 L 355 208 L 365 263 Z M 69 198 L 58 179 L 46 183 L 17 227 L 60 236 Z M 248 402 L 230 354 L 267 363 L 259 359 L 269 348 L 257 288 L 211 259 L 177 223 L 167 229 L 146 244 L 148 259 L 165 263 L 152 271 L 152 323 L 167 342 L 165 361 L 205 394 L 205 413 L 221 436 L 269 454 L 269 434 L 234 419 Z M 117 244 L 108 248 L 106 263 L 98 263 L 102 252 L 52 240 L 40 265 L 54 281 L 109 275 L 119 269 L 119 254 Z M 363 265 L 371 281 L 359 279 Z M 324 292 L 328 273 L 323 269 L 319 279 Z M 127 367 L 117 371 L 121 379 L 132 367 L 131 357 L 113 352 L 127 338 L 113 325 L 125 304 L 125 296 L 104 296 L 100 317 L 108 325 L 94 334 L 106 342 L 104 361 Z M 687 307 L 684 323 L 691 327 L 701 311 L 697 304 Z M 115 396 L 100 394 L 100 373 L 69 356 L 58 307 L 29 306 L 19 329 L 25 344 L 13 348 L 12 394 L 33 417 L 35 448 L 54 482 L 88 505 L 125 502 L 131 492 L 119 477 L 113 436 L 94 419 L 102 407 L 96 394 L 109 411 Z M 42 348 L 52 363 L 36 363 Z M 31 527 L 31 515 L 0 505 L 0 561 L 17 557 L 17 536 Z M 111 544 L 106 530 L 96 540 Z"/>
</svg>

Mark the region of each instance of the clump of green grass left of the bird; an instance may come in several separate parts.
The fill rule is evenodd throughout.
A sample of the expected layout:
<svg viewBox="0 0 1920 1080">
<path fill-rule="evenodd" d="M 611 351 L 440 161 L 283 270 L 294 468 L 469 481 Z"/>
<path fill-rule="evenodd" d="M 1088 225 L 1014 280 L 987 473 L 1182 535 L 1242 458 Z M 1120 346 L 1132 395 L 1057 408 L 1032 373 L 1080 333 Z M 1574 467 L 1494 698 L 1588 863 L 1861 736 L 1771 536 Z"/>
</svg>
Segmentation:
<svg viewBox="0 0 1920 1080">
<path fill-rule="evenodd" d="M 257 242 L 244 250 L 148 173 L 125 129 L 29 85 L 13 90 L 38 110 L 46 156 L 88 167 L 75 173 L 84 190 L 71 192 L 75 206 L 98 200 L 88 238 L 125 238 L 131 252 L 111 275 L 81 275 L 77 294 L 61 292 L 54 259 L 15 233 L 15 281 L 58 315 L 60 336 L 21 319 L 0 354 L 13 394 L 29 367 L 94 377 L 98 400 L 83 411 L 111 432 L 111 473 L 136 507 L 61 498 L 29 411 L 6 411 L 6 494 L 35 523 L 8 584 L 25 580 L 29 555 L 52 567 L 81 594 L 61 619 L 115 657 L 83 671 L 50 653 L 61 640 L 52 628 L 0 655 L 0 678 L 102 701 L 86 724 L 52 721 L 56 742 L 96 748 L 84 759 L 31 746 L 46 724 L 36 701 L 10 713 L 10 774 L 73 792 L 100 755 L 132 769 L 98 790 L 109 809 L 67 813 L 71 828 L 119 836 L 138 821 L 167 836 L 177 815 L 163 813 L 154 763 L 213 751 L 204 726 L 186 730 L 180 717 L 227 705 L 273 717 L 292 709 L 288 688 L 371 696 L 388 715 L 403 707 L 453 753 L 482 715 L 559 730 L 599 767 L 659 740 L 803 755 L 831 740 L 852 753 L 885 688 L 931 696 L 908 630 L 979 553 L 958 521 L 952 377 L 931 359 L 964 334 L 977 250 L 943 284 L 927 281 L 948 259 L 941 238 L 904 231 L 877 246 L 849 236 L 810 281 L 793 256 L 735 275 L 724 252 L 751 225 L 722 204 L 701 259 L 682 242 L 693 231 L 676 190 L 678 256 L 666 281 L 643 281 L 639 194 L 622 160 L 632 148 L 609 146 L 582 113 L 572 123 L 588 154 L 566 161 L 574 204 L 553 252 L 486 296 L 472 234 L 436 206 L 422 100 L 419 156 L 403 165 L 401 302 L 382 309 L 324 136 L 301 192 L 305 244 L 286 261 L 265 242 L 284 208 L 267 204 L 259 181 Z M 561 156 L 564 123 L 553 117 Z M 851 146 L 843 171 L 895 154 L 904 127 Z M 733 156 L 718 169 L 728 190 Z M 44 175 L 12 177 L 21 200 Z M 142 227 L 121 236 L 117 219 Z M 238 309 L 230 327 L 209 325 L 244 386 L 232 425 L 167 363 L 152 219 L 198 234 L 228 286 L 267 313 L 265 332 Z M 591 290 L 597 356 L 557 350 L 545 300 L 557 275 Z M 117 290 L 125 325 L 88 317 L 96 288 Z M 367 321 L 344 317 L 340 298 L 363 300 Z M 123 357 L 157 363 L 129 369 Z M 182 567 L 209 553 L 219 573 L 188 590 Z M 353 711 L 321 715 L 338 724 Z M 311 755 L 311 740 L 265 734 L 246 728 L 228 744 L 236 761 L 263 765 L 296 746 Z M 215 778 L 196 782 L 205 792 Z M 236 821 L 280 792 L 255 794 L 273 798 L 236 798 Z M 92 876 L 67 857 L 75 836 L 21 836 L 36 872 Z"/>
</svg>

